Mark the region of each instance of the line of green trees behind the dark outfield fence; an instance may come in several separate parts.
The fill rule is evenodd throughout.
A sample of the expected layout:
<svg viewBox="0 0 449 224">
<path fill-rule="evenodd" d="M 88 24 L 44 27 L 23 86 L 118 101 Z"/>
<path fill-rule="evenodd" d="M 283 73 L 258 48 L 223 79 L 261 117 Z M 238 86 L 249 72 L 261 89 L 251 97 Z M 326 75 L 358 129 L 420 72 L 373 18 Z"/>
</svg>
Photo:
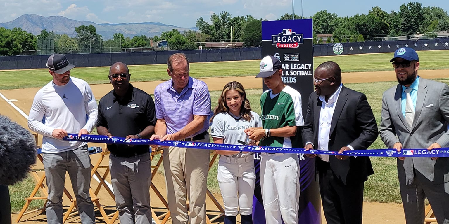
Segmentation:
<svg viewBox="0 0 449 224">
<path fill-rule="evenodd" d="M 301 17 L 295 14 L 297 18 Z M 336 13 L 321 10 L 310 18 L 313 18 L 314 43 L 323 43 L 317 34 L 333 34 L 332 41 L 340 43 L 380 40 L 385 36 L 410 36 L 418 32 L 435 35 L 435 32 L 449 29 L 449 16 L 444 9 L 423 7 L 419 2 L 402 4 L 399 10 L 390 13 L 375 6 L 367 14 L 351 17 L 339 17 Z M 285 13 L 277 20 L 286 19 L 293 19 L 293 15 Z M 58 53 L 120 52 L 123 47 L 150 47 L 151 40 L 167 40 L 171 50 L 198 49 L 205 43 L 230 42 L 231 38 L 243 42 L 245 47 L 260 46 L 262 41 L 262 19 L 251 15 L 233 17 L 229 12 L 213 13 L 209 21 L 198 18 L 196 27 L 199 31 L 180 32 L 173 29 L 154 37 L 139 35 L 125 38 L 123 34 L 115 33 L 110 39 L 102 38 L 92 25 L 76 27 L 76 37 L 47 30 L 33 35 L 21 28 L 9 30 L 0 27 L 0 55 L 20 55 L 36 49 L 44 54 L 48 49 Z"/>
</svg>

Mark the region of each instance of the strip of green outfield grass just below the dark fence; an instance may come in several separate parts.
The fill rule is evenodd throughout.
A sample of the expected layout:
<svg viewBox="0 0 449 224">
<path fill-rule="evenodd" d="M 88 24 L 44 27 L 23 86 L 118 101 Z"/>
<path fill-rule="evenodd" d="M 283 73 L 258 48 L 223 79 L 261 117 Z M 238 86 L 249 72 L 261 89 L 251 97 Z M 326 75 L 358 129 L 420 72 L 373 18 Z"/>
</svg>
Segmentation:
<svg viewBox="0 0 449 224">
<path fill-rule="evenodd" d="M 314 58 L 314 68 L 322 62 L 333 60 L 343 72 L 392 71 L 390 59 L 393 53 L 325 56 Z M 449 69 L 449 51 L 421 51 L 420 69 Z M 225 76 L 254 76 L 259 73 L 260 60 L 226 61 L 192 63 L 190 75 L 195 78 L 212 78 Z M 132 82 L 167 80 L 167 65 L 132 65 L 129 66 Z M 71 74 L 86 80 L 90 84 L 108 83 L 108 67 L 75 68 Z M 47 69 L 0 71 L 2 83 L 0 89 L 19 89 L 40 87 L 47 84 L 51 75 Z"/>
</svg>

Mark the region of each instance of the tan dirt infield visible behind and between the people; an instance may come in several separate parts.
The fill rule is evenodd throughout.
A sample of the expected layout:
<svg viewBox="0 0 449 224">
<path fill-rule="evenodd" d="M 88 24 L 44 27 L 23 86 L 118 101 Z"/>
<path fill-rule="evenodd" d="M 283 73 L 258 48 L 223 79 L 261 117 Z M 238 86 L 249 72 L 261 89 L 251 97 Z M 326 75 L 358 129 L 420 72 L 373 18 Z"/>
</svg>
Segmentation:
<svg viewBox="0 0 449 224">
<path fill-rule="evenodd" d="M 449 70 L 422 70 L 419 71 L 419 75 L 423 78 L 449 78 Z M 167 77 L 168 78 L 168 77 Z M 230 81 L 238 81 L 245 86 L 246 89 L 256 89 L 262 87 L 262 80 L 254 77 L 226 77 L 226 78 L 205 78 L 202 79 L 207 83 L 209 90 L 222 90 L 225 83 Z M 395 74 L 391 72 L 367 72 L 367 73 L 343 73 L 343 83 L 360 83 L 360 82 L 383 82 L 383 81 L 395 81 Z M 162 82 L 162 81 L 161 81 Z M 132 84 L 137 88 L 145 90 L 148 93 L 153 93 L 154 88 L 161 82 L 133 82 Z M 100 99 L 107 92 L 112 90 L 111 84 L 101 84 L 101 85 L 91 85 L 93 94 L 96 99 Z M 34 95 L 39 90 L 39 88 L 30 89 L 16 89 L 16 90 L 0 90 L 0 93 L 4 95 L 7 99 L 16 99 L 13 102 L 15 106 L 20 108 L 24 113 L 28 114 L 31 108 L 31 103 L 33 101 Z M 0 113 L 5 116 L 9 116 L 13 121 L 18 122 L 20 125 L 26 127 L 26 118 L 22 116 L 17 110 L 15 110 L 11 105 L 9 105 L 4 99 L 0 99 L 0 107 L 2 108 Z M 92 155 L 92 163 L 96 162 L 99 158 L 99 154 Z M 102 165 L 108 164 L 108 158 L 103 160 Z M 103 171 L 99 170 L 100 174 L 103 175 Z M 106 181 L 110 182 L 110 177 L 106 178 Z M 94 181 L 92 181 L 94 183 Z M 154 177 L 153 183 L 161 191 L 163 195 L 165 192 L 165 182 L 161 175 Z M 96 183 L 94 183 L 96 184 Z M 70 181 L 67 178 L 66 186 L 68 186 L 69 191 Z M 157 199 L 157 196 L 151 191 L 151 205 L 156 208 L 155 211 L 163 211 L 158 208 L 162 208 L 163 204 Z M 106 210 L 112 211 L 114 209 L 114 201 L 106 191 L 100 191 L 99 195 L 101 204 L 105 206 Z M 220 195 L 216 195 L 216 198 L 223 204 Z M 69 201 L 64 198 L 64 205 L 68 207 Z M 216 211 L 217 209 L 213 206 L 212 202 L 208 200 L 207 202 L 208 212 Z M 212 212 L 213 213 L 213 212 Z M 365 224 L 377 224 L 380 222 L 389 223 L 405 223 L 404 213 L 401 204 L 394 203 L 375 203 L 375 202 L 365 202 L 364 203 L 364 223 Z M 13 222 L 15 222 L 17 214 L 13 214 Z M 99 222 L 103 222 L 103 218 L 97 213 L 97 218 Z M 45 215 L 38 215 L 38 213 L 33 213 L 24 216 L 20 223 L 31 224 L 31 223 L 46 223 Z M 324 216 L 322 218 L 323 223 L 325 223 Z M 79 223 L 79 218 L 73 217 L 67 220 L 66 223 Z M 118 221 L 116 222 L 118 223 Z M 171 223 L 171 222 L 169 222 Z M 214 223 L 223 223 L 223 219 L 216 220 Z"/>
</svg>

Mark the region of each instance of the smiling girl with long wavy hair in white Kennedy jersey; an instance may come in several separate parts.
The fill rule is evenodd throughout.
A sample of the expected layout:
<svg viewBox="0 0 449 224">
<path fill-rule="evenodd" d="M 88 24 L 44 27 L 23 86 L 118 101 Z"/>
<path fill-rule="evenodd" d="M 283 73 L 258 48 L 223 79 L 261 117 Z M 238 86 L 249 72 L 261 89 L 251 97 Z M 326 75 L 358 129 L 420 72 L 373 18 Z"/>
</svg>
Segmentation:
<svg viewBox="0 0 449 224">
<path fill-rule="evenodd" d="M 248 139 L 244 130 L 261 127 L 260 116 L 251 111 L 245 89 L 239 82 L 228 82 L 218 99 L 211 118 L 214 143 L 257 145 Z M 252 201 L 255 185 L 252 153 L 216 150 L 220 154 L 217 180 L 225 203 L 225 224 L 235 224 L 240 207 L 242 224 L 252 224 Z"/>
</svg>

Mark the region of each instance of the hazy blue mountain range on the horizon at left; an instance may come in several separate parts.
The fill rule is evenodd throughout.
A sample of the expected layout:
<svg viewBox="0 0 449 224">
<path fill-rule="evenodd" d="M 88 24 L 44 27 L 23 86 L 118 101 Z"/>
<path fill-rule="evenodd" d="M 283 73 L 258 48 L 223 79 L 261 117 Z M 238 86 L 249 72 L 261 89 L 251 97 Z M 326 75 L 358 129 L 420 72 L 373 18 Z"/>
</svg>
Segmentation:
<svg viewBox="0 0 449 224">
<path fill-rule="evenodd" d="M 160 22 L 97 24 L 90 21 L 77 21 L 63 16 L 44 17 L 35 14 L 24 14 L 13 21 L 0 23 L 0 27 L 3 26 L 7 29 L 19 27 L 35 35 L 40 34 L 41 30 L 47 29 L 49 32 L 53 31 L 56 34 L 68 34 L 69 36 L 76 35 L 75 27 L 81 25 L 95 26 L 97 33 L 104 39 L 112 38 L 114 33 L 122 33 L 125 37 L 132 38 L 138 35 L 146 35 L 147 37 L 153 37 L 154 35 L 160 36 L 163 31 L 170 31 L 172 29 L 177 29 L 180 32 L 184 30 L 198 30 L 196 27 L 183 28 Z"/>
</svg>

